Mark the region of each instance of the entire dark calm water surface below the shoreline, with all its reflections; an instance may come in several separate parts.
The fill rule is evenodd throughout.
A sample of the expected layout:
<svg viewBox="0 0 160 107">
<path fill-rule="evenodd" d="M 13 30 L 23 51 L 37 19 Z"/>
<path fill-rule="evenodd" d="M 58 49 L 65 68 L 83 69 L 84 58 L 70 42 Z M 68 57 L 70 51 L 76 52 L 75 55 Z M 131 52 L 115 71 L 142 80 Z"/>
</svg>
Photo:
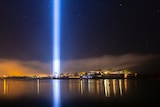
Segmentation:
<svg viewBox="0 0 160 107">
<path fill-rule="evenodd" d="M 159 103 L 160 80 L 0 80 L 0 107 L 154 107 Z"/>
</svg>

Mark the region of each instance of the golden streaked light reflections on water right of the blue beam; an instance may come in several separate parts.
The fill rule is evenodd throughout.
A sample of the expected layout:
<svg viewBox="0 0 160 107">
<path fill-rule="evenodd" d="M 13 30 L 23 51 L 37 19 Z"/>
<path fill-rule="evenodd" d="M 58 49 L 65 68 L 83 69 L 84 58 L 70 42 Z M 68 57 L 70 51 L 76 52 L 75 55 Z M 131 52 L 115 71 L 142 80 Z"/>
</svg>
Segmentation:
<svg viewBox="0 0 160 107">
<path fill-rule="evenodd" d="M 67 83 L 68 82 L 68 83 Z M 69 80 L 67 82 L 62 82 L 64 87 L 68 84 L 68 89 L 66 92 L 72 94 L 81 94 L 81 95 L 98 95 L 105 97 L 119 97 L 123 96 L 124 93 L 127 93 L 127 79 L 89 79 L 89 80 Z M 64 89 L 64 88 L 62 88 Z"/>
</svg>

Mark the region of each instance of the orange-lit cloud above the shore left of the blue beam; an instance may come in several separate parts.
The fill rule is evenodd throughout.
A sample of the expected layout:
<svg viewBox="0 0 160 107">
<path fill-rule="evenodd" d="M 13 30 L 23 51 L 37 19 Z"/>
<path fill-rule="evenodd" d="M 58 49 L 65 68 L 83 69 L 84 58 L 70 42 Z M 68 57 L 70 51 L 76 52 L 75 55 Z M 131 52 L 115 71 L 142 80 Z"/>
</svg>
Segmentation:
<svg viewBox="0 0 160 107">
<path fill-rule="evenodd" d="M 49 63 L 0 59 L 0 75 L 33 76 L 50 74 L 51 64 Z"/>
</svg>

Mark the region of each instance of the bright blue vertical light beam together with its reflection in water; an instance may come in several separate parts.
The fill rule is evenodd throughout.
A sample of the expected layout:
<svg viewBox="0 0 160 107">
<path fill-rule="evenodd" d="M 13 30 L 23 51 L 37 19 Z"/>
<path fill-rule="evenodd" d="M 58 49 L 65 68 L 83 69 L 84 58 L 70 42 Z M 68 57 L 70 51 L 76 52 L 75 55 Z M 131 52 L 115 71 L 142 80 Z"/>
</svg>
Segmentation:
<svg viewBox="0 0 160 107">
<path fill-rule="evenodd" d="M 60 1 L 61 0 L 53 0 L 53 15 L 54 15 L 54 40 L 53 40 L 53 74 L 56 73 L 56 78 L 58 78 L 58 74 L 60 73 Z M 60 81 L 53 81 L 53 107 L 60 107 Z"/>
</svg>

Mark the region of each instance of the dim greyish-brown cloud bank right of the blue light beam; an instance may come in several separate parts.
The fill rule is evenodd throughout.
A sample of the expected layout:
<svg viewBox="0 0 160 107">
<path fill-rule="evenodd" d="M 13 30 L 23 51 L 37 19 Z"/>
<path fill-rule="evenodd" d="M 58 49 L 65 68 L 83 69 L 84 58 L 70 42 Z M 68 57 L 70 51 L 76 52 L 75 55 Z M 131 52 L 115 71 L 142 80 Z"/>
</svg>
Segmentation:
<svg viewBox="0 0 160 107">
<path fill-rule="evenodd" d="M 110 68 L 113 70 L 130 69 L 137 72 L 139 67 L 144 67 L 145 64 L 149 65 L 149 61 L 157 57 L 159 56 L 129 53 L 120 56 L 104 55 L 101 57 L 70 60 L 62 62 L 62 72 L 90 71 L 96 68 L 103 70 Z"/>
</svg>

